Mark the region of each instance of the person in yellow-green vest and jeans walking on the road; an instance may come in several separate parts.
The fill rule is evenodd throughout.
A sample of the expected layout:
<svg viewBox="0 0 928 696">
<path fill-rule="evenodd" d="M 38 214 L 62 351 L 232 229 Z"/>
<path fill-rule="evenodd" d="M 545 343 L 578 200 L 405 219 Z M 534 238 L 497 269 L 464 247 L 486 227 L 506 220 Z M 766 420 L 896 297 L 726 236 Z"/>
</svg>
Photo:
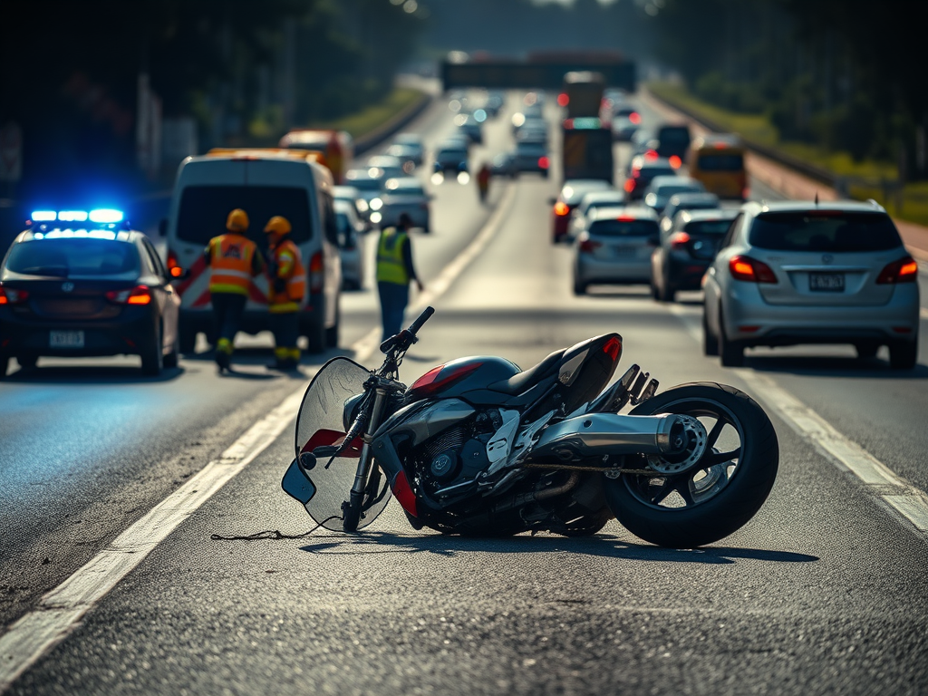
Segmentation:
<svg viewBox="0 0 928 696">
<path fill-rule="evenodd" d="M 412 241 L 409 228 L 412 218 L 400 213 L 395 227 L 384 227 L 377 244 L 377 290 L 380 294 L 380 317 L 383 341 L 403 329 L 403 315 L 409 302 L 409 283 L 416 283 L 421 292 L 422 282 L 412 263 Z"/>
</svg>

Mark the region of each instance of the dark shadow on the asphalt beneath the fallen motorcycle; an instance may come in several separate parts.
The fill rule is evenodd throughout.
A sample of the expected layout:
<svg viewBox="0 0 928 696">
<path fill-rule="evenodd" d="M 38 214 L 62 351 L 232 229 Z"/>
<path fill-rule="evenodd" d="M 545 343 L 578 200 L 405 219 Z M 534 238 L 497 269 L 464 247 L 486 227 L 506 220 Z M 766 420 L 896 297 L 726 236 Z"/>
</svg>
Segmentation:
<svg viewBox="0 0 928 696">
<path fill-rule="evenodd" d="M 740 559 L 775 563 L 811 563 L 817 556 L 791 551 L 762 548 L 705 547 L 691 550 L 630 544 L 613 535 L 594 535 L 584 539 L 550 536 L 510 536 L 488 539 L 467 536 L 424 535 L 404 536 L 388 532 L 362 532 L 359 535 L 326 535 L 317 544 L 307 544 L 301 550 L 312 554 L 354 555 L 365 553 L 428 553 L 455 557 L 458 553 L 583 553 L 602 558 L 627 561 L 661 561 L 678 563 L 727 564 Z"/>
</svg>

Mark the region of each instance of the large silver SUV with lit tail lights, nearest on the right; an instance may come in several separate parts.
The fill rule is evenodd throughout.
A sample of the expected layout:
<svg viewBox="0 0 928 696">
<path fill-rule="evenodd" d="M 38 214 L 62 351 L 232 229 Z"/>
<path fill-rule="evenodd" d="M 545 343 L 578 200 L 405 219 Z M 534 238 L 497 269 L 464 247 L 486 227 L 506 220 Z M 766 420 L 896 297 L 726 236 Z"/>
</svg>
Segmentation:
<svg viewBox="0 0 928 696">
<path fill-rule="evenodd" d="M 704 352 L 738 367 L 755 345 L 889 347 L 896 369 L 918 356 L 918 264 L 870 201 L 741 206 L 703 279 Z"/>
</svg>

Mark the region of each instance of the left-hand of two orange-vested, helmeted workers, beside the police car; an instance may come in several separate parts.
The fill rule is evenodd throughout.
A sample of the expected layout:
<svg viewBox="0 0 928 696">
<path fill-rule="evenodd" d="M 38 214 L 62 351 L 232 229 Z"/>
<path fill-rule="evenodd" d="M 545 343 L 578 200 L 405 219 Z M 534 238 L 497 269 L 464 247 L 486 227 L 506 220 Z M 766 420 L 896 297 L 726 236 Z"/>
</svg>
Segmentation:
<svg viewBox="0 0 928 696">
<path fill-rule="evenodd" d="M 228 232 L 210 239 L 203 259 L 210 266 L 210 301 L 216 322 L 216 365 L 220 373 L 229 368 L 232 345 L 248 302 L 251 278 L 264 270 L 258 246 L 245 237 L 248 215 L 240 208 L 226 218 Z"/>
</svg>

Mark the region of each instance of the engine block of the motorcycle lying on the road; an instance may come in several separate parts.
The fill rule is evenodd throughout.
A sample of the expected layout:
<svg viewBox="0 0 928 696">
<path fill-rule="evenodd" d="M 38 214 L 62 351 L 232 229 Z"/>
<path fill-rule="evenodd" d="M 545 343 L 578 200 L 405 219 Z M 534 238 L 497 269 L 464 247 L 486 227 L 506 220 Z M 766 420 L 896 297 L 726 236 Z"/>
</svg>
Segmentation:
<svg viewBox="0 0 928 696">
<path fill-rule="evenodd" d="M 503 424 L 496 408 L 440 432 L 415 452 L 419 480 L 429 493 L 472 481 L 490 465 L 486 445 Z"/>
</svg>

